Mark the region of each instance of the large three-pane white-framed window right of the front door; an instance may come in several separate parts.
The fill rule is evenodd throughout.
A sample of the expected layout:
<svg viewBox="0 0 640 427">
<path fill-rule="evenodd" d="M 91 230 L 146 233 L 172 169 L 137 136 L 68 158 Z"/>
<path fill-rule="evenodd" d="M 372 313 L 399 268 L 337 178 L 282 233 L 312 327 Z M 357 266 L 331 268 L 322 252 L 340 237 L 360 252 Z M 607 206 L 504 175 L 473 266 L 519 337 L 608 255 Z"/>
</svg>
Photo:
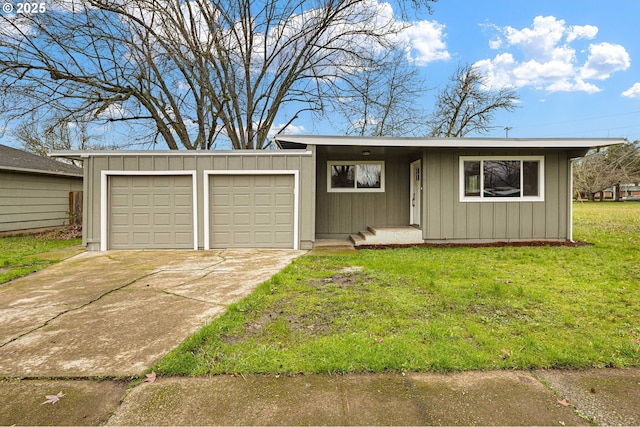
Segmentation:
<svg viewBox="0 0 640 427">
<path fill-rule="evenodd" d="M 460 201 L 543 201 L 544 157 L 460 157 Z"/>
</svg>

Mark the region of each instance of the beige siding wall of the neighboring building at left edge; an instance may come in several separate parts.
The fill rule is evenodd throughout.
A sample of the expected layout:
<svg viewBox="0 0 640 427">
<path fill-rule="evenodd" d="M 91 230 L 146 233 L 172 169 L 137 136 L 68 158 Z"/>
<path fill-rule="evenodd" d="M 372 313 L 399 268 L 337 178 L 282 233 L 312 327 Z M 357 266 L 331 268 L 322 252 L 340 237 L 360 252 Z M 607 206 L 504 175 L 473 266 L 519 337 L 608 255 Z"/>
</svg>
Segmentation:
<svg viewBox="0 0 640 427">
<path fill-rule="evenodd" d="M 0 232 L 69 223 L 69 192 L 82 177 L 0 171 Z"/>
</svg>

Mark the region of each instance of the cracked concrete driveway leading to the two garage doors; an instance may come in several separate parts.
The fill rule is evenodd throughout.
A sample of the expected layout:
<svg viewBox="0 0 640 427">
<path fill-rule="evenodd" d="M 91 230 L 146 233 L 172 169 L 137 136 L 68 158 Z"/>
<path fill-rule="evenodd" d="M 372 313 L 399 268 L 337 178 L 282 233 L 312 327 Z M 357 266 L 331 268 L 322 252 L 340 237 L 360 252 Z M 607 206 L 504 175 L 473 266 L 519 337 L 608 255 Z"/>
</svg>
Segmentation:
<svg viewBox="0 0 640 427">
<path fill-rule="evenodd" d="M 0 376 L 140 374 L 303 253 L 85 252 L 0 285 Z"/>
</svg>

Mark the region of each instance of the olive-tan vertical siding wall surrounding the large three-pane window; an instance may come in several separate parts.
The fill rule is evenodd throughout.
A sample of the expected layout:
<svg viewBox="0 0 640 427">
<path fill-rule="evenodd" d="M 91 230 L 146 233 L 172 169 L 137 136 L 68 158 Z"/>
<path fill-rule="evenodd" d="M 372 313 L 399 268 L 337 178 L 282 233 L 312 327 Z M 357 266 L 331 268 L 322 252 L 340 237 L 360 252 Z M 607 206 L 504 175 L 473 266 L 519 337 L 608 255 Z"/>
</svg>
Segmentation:
<svg viewBox="0 0 640 427">
<path fill-rule="evenodd" d="M 460 201 L 460 156 L 540 155 L 544 155 L 544 201 Z M 423 164 L 423 238 L 427 242 L 570 237 L 570 163 L 566 151 L 425 151 Z"/>
</svg>

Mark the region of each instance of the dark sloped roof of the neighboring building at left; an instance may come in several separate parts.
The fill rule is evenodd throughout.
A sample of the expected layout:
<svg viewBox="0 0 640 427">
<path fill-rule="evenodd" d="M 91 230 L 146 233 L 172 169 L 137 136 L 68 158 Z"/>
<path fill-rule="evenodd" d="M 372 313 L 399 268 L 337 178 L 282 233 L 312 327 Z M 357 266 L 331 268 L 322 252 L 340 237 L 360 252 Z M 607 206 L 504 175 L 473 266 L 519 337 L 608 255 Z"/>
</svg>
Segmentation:
<svg viewBox="0 0 640 427">
<path fill-rule="evenodd" d="M 0 170 L 82 176 L 82 168 L 0 144 Z"/>
</svg>

